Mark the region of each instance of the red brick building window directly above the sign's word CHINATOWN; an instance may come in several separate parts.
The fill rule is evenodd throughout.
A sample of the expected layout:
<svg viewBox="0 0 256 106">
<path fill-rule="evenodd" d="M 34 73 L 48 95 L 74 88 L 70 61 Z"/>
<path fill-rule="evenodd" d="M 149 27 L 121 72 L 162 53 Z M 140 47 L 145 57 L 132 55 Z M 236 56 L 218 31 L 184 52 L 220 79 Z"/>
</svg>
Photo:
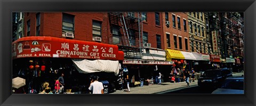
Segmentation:
<svg viewBox="0 0 256 106">
<path fill-rule="evenodd" d="M 74 15 L 62 14 L 62 34 L 66 35 L 66 32 L 74 34 Z"/>
</svg>

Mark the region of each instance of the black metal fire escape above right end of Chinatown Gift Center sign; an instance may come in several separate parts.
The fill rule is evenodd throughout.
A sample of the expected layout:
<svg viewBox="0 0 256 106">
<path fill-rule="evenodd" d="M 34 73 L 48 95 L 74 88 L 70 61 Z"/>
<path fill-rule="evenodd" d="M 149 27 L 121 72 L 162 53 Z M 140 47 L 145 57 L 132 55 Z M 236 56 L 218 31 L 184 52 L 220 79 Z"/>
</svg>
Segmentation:
<svg viewBox="0 0 256 106">
<path fill-rule="evenodd" d="M 138 15 L 136 15 L 138 14 Z M 125 59 L 141 59 L 142 57 L 142 21 L 138 12 L 111 12 L 109 15 L 109 44 L 118 45 L 124 52 Z"/>
</svg>

